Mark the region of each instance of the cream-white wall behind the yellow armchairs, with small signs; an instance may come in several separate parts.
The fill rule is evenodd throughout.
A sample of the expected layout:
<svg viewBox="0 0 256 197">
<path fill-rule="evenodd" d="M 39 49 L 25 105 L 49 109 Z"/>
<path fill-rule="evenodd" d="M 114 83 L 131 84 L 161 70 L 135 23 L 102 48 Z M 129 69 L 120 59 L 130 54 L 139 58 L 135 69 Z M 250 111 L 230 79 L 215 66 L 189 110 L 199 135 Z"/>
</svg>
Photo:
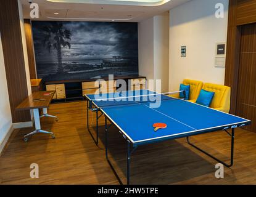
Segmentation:
<svg viewBox="0 0 256 197">
<path fill-rule="evenodd" d="M 215 4 L 223 3 L 225 17 L 215 18 Z M 215 67 L 215 45 L 226 42 L 228 0 L 192 0 L 170 10 L 169 90 L 184 78 L 223 84 L 225 68 Z M 181 58 L 181 46 L 187 47 Z"/>
</svg>

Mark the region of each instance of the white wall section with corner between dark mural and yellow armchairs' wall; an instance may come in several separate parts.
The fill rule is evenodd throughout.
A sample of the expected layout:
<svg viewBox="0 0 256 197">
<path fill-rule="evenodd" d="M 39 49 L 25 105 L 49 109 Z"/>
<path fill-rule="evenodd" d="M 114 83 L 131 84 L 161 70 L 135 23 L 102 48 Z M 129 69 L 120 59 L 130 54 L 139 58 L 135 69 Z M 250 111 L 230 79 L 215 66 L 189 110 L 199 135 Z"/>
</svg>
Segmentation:
<svg viewBox="0 0 256 197">
<path fill-rule="evenodd" d="M 157 15 L 138 24 L 139 74 L 161 79 L 162 92 L 168 92 L 169 14 Z M 155 87 L 149 87 L 155 90 Z"/>
</svg>

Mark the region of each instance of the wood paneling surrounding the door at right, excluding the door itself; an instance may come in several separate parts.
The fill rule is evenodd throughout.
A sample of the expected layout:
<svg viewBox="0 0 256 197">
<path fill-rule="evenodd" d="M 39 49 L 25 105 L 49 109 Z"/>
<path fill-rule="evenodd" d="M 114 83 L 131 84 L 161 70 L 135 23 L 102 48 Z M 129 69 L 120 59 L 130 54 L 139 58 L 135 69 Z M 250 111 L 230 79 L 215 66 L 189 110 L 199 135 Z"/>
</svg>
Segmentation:
<svg viewBox="0 0 256 197">
<path fill-rule="evenodd" d="M 236 113 L 241 25 L 256 22 L 255 0 L 230 0 L 225 84 L 231 87 L 231 113 Z"/>
</svg>

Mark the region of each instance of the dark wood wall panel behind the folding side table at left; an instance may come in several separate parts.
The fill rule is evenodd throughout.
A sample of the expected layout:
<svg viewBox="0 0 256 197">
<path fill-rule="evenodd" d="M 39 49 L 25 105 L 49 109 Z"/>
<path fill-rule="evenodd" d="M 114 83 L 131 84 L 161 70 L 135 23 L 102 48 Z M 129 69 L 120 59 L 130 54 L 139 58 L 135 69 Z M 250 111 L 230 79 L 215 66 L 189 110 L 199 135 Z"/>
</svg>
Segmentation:
<svg viewBox="0 0 256 197">
<path fill-rule="evenodd" d="M 28 97 L 17 1 L 0 1 L 0 32 L 12 122 L 20 123 L 31 121 L 30 111 L 15 110 L 17 105 Z"/>
</svg>

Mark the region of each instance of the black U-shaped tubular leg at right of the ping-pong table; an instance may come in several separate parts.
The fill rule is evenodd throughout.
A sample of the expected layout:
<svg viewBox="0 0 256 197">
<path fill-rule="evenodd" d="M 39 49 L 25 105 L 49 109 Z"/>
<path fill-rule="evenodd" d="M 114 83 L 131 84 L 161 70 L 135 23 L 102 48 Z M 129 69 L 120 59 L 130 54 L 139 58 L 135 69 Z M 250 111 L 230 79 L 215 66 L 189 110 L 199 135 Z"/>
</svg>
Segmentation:
<svg viewBox="0 0 256 197">
<path fill-rule="evenodd" d="M 191 145 L 192 147 L 196 148 L 197 150 L 201 151 L 202 153 L 204 153 L 205 155 L 210 156 L 210 158 L 215 159 L 216 161 L 218 161 L 219 163 L 223 164 L 226 167 L 231 167 L 233 166 L 234 163 L 234 128 L 232 129 L 232 134 L 231 134 L 231 153 L 230 153 L 230 164 L 225 163 L 224 161 L 221 161 L 220 159 L 215 158 L 215 156 L 210 155 L 210 153 L 207 153 L 206 151 L 202 150 L 201 148 L 197 147 L 196 145 L 194 145 L 193 143 L 190 142 L 189 137 L 187 137 L 187 142 L 189 145 Z"/>
</svg>

